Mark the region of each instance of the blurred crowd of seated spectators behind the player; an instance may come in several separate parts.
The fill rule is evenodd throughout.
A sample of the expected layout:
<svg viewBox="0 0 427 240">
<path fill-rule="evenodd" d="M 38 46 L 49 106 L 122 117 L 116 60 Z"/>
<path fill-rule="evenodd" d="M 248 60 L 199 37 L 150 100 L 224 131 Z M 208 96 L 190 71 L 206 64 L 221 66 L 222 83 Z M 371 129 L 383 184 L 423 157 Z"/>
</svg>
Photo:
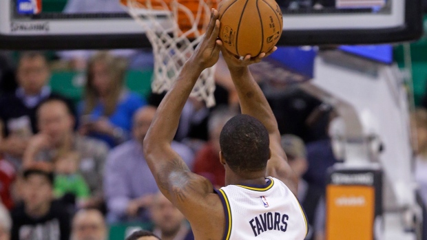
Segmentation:
<svg viewBox="0 0 427 240">
<path fill-rule="evenodd" d="M 48 60 L 43 52 L 0 58 L 0 240 L 105 240 L 112 226 L 132 223 L 147 223 L 160 239 L 194 239 L 183 215 L 159 193 L 143 155 L 163 94 L 144 98 L 125 87 L 128 57 L 90 53 L 79 68 L 85 88 L 78 104 L 49 85 L 52 66 L 72 60 Z M 216 188 L 225 184 L 219 134 L 239 111 L 223 64 L 216 107 L 190 98 L 172 143 Z M 266 96 L 300 177 L 298 199 L 311 225 L 307 239 L 322 240 L 326 168 L 336 161 L 326 134 L 333 111 L 298 86 Z"/>
</svg>

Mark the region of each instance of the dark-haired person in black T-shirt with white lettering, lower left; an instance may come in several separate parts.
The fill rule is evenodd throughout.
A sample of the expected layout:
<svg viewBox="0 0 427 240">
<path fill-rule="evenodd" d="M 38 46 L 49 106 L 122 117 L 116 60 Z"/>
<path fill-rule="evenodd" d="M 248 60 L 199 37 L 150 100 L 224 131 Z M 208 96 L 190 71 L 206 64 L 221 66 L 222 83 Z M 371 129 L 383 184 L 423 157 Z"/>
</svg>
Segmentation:
<svg viewBox="0 0 427 240">
<path fill-rule="evenodd" d="M 12 240 L 68 240 L 70 214 L 53 199 L 52 166 L 31 164 L 23 171 L 23 204 L 12 210 Z"/>
</svg>

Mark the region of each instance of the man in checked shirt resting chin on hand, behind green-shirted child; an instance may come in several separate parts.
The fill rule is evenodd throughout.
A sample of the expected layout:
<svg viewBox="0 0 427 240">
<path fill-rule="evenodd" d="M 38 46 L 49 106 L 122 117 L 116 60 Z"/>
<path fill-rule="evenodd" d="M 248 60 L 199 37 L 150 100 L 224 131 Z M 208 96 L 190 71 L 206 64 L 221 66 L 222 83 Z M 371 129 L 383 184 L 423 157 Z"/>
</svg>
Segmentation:
<svg viewBox="0 0 427 240">
<path fill-rule="evenodd" d="M 74 118 L 65 102 L 45 100 L 37 110 L 40 133 L 34 135 L 25 151 L 24 163 L 52 161 L 60 151 L 80 154 L 79 170 L 90 188 L 91 198 L 83 207 L 98 207 L 103 202 L 103 169 L 108 147 L 101 141 L 74 133 Z"/>
</svg>

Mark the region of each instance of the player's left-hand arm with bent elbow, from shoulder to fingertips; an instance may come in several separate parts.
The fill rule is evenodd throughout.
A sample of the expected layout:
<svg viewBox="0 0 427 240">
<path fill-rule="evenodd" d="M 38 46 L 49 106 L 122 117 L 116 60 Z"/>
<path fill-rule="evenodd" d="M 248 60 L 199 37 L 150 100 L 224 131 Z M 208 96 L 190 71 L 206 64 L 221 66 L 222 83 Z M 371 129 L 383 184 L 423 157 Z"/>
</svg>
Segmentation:
<svg viewBox="0 0 427 240">
<path fill-rule="evenodd" d="M 215 10 L 205 39 L 185 63 L 176 83 L 157 109 L 156 116 L 144 140 L 144 155 L 160 191 L 191 221 L 197 208 L 213 193 L 212 184 L 205 177 L 191 173 L 182 158 L 171 148 L 181 111 L 198 76 L 219 58 L 218 12 Z M 200 212 L 200 211 L 199 211 Z"/>
</svg>

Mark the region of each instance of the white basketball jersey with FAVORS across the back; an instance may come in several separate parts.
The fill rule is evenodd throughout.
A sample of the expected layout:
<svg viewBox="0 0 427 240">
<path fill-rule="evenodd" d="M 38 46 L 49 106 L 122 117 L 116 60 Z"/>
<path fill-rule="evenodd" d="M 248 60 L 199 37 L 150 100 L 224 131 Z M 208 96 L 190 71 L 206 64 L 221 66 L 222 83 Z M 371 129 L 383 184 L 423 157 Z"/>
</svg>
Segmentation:
<svg viewBox="0 0 427 240">
<path fill-rule="evenodd" d="M 225 240 L 303 240 L 304 211 L 279 179 L 264 186 L 229 185 L 218 190 L 225 210 Z"/>
</svg>

